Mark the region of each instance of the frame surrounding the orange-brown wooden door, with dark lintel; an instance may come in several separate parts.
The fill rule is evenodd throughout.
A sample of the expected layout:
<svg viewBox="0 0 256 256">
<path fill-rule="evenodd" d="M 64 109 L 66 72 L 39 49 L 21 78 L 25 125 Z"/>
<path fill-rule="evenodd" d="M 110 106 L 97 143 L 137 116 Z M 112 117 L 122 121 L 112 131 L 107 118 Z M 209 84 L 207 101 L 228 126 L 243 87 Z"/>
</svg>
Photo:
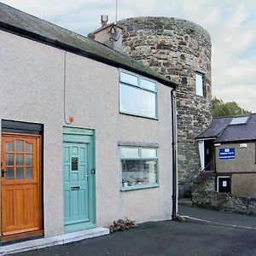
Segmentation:
<svg viewBox="0 0 256 256">
<path fill-rule="evenodd" d="M 12 127 L 7 127 L 5 128 L 3 123 L 5 122 L 12 122 L 15 123 L 17 127 L 20 127 L 20 125 L 26 124 L 28 127 L 30 124 L 28 123 L 23 123 L 23 122 L 15 122 L 15 121 L 5 121 L 2 120 L 2 131 L 1 131 L 1 144 L 3 142 L 3 136 L 12 136 L 12 137 L 37 137 L 38 138 L 38 221 L 39 221 L 39 230 L 36 231 L 28 231 L 28 232 L 21 232 L 17 233 L 14 235 L 9 235 L 9 236 L 2 236 L 2 207 L 3 207 L 3 201 L 2 201 L 2 196 L 3 196 L 3 191 L 2 191 L 2 181 L 0 182 L 0 241 L 15 241 L 15 240 L 27 240 L 31 239 L 31 237 L 43 237 L 44 236 L 44 210 L 43 210 L 43 189 L 44 189 L 44 183 L 43 183 L 43 125 L 38 125 L 40 126 L 40 129 L 38 128 L 38 131 L 23 131 L 21 129 L 17 129 L 17 127 L 12 128 Z M 31 124 L 34 125 L 34 124 Z M 3 128 L 4 127 L 4 128 Z M 40 130 L 40 131 L 39 131 Z M 1 162 L 2 162 L 2 150 L 3 150 L 3 145 L 1 145 Z M 2 166 L 1 166 L 2 169 Z M 1 174 L 2 175 L 2 174 Z M 1 177 L 2 178 L 2 177 Z"/>
</svg>

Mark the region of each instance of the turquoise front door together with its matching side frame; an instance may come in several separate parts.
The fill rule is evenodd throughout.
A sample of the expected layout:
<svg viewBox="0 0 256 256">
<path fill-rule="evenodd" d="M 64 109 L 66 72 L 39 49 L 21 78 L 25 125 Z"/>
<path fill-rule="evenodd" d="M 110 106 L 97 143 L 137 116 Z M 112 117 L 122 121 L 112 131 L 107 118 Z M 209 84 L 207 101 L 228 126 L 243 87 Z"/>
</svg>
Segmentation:
<svg viewBox="0 0 256 256">
<path fill-rule="evenodd" d="M 91 136 L 64 135 L 65 232 L 95 225 L 93 145 Z"/>
</svg>

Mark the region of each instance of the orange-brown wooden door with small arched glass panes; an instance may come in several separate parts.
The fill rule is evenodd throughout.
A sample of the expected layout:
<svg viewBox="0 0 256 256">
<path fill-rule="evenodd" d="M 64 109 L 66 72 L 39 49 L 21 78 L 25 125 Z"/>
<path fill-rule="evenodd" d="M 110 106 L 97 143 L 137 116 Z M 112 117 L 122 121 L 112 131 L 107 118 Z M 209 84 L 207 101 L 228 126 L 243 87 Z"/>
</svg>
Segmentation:
<svg viewBox="0 0 256 256">
<path fill-rule="evenodd" d="M 2 135 L 1 235 L 42 233 L 40 137 Z"/>
</svg>

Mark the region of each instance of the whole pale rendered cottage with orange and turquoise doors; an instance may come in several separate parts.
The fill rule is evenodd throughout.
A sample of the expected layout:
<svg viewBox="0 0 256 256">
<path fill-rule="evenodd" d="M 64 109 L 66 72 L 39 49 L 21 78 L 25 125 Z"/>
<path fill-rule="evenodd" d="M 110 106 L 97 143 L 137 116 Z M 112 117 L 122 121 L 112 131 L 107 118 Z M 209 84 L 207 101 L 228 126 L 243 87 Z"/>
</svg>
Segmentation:
<svg viewBox="0 0 256 256">
<path fill-rule="evenodd" d="M 3 3 L 0 38 L 1 242 L 176 218 L 177 84 Z"/>
</svg>

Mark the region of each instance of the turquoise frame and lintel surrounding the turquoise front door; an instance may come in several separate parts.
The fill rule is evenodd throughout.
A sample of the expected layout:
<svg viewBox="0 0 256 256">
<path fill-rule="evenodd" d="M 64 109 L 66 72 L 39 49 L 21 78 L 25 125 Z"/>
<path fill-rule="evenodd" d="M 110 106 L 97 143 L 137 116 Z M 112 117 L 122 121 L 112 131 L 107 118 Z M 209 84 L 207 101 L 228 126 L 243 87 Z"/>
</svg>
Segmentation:
<svg viewBox="0 0 256 256">
<path fill-rule="evenodd" d="M 78 139 L 78 137 L 80 137 Z M 96 175 L 91 173 L 92 170 L 95 170 L 96 166 L 96 158 L 95 158 L 95 131 L 85 128 L 77 128 L 77 127 L 67 127 L 63 126 L 63 137 L 62 137 L 62 144 L 64 143 L 88 143 L 88 140 L 84 139 L 85 137 L 90 137 L 91 145 L 89 147 L 90 150 L 90 181 L 88 183 L 89 187 L 89 218 L 90 223 L 88 226 L 83 226 L 83 228 L 65 228 L 65 195 L 64 195 L 64 169 L 62 166 L 62 188 L 63 188 L 63 218 L 64 218 L 64 231 L 65 233 L 79 231 L 84 229 L 91 229 L 96 227 Z"/>
</svg>

